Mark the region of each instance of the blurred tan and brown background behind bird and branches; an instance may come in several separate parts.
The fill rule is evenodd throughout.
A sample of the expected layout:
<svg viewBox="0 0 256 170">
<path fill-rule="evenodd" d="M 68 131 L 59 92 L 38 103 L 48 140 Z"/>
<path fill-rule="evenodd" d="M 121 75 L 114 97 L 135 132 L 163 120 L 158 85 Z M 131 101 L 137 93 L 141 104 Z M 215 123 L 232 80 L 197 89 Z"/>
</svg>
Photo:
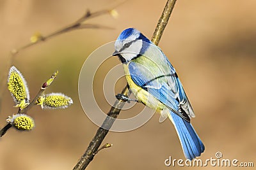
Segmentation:
<svg viewBox="0 0 256 170">
<path fill-rule="evenodd" d="M 10 50 L 29 43 L 35 32 L 47 35 L 74 22 L 87 9 L 98 11 L 118 3 L 120 1 L 115 0 L 0 1 L 3 99 L 0 127 L 6 124 L 9 115 L 17 113 L 6 88 Z M 126 1 L 115 8 L 118 18 L 102 15 L 88 20 L 88 23 L 115 29 L 68 32 L 15 55 L 12 63 L 28 81 L 31 98 L 58 69 L 60 73 L 46 93 L 63 92 L 72 97 L 74 104 L 67 110 L 42 111 L 40 106 L 29 110 L 36 127 L 31 132 L 10 129 L 0 139 L 0 169 L 72 169 L 76 165 L 98 129 L 79 103 L 77 85 L 83 62 L 93 50 L 114 41 L 127 27 L 136 27 L 151 38 L 165 3 L 164 0 Z M 223 159 L 256 164 L 255 6 L 253 0 L 178 0 L 159 43 L 193 104 L 196 118 L 192 123 L 205 145 L 202 160 L 215 159 L 215 153 L 221 152 Z M 119 63 L 118 59 L 112 60 L 111 65 L 106 64 L 106 71 Z M 102 80 L 94 83 L 93 88 L 99 89 L 97 102 L 107 113 L 109 104 L 100 94 Z M 124 85 L 124 79 L 118 81 L 116 93 Z M 137 113 L 141 105 L 136 105 L 130 111 L 121 112 L 120 118 Z M 182 148 L 170 121 L 159 124 L 158 119 L 159 115 L 154 115 L 134 131 L 109 132 L 103 143 L 113 143 L 113 146 L 99 152 L 87 169 L 173 168 L 164 166 L 164 160 L 169 156 L 184 159 Z"/>
</svg>

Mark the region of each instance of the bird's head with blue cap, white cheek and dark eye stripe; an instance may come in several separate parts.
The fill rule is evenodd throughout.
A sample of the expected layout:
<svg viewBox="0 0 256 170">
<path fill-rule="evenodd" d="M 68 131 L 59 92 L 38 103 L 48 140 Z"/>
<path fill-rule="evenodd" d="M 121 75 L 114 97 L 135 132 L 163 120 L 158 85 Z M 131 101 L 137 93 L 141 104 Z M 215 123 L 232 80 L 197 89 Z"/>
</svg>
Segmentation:
<svg viewBox="0 0 256 170">
<path fill-rule="evenodd" d="M 122 63 L 127 63 L 143 55 L 149 43 L 150 40 L 140 31 L 134 28 L 125 29 L 115 41 L 113 56 L 118 56 Z"/>
</svg>

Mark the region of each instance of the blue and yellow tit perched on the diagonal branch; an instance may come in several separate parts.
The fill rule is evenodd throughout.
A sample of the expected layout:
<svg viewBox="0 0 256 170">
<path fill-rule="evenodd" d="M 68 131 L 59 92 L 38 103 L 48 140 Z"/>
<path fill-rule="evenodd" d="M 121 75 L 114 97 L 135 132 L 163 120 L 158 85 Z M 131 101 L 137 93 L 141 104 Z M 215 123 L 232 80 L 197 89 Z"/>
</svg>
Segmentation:
<svg viewBox="0 0 256 170">
<path fill-rule="evenodd" d="M 199 157 L 205 148 L 190 123 L 194 111 L 174 67 L 161 49 L 140 31 L 129 28 L 116 39 L 113 56 L 122 62 L 136 99 L 161 113 L 162 118 L 170 118 L 186 159 Z"/>
</svg>

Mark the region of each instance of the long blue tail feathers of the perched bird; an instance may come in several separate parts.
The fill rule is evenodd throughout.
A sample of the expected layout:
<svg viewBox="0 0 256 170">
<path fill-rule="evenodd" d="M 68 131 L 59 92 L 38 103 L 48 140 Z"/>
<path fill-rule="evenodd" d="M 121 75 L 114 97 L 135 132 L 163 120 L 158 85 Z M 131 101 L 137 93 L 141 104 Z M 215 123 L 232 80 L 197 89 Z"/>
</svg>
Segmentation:
<svg viewBox="0 0 256 170">
<path fill-rule="evenodd" d="M 197 136 L 193 126 L 186 120 L 171 112 L 175 129 L 179 135 L 180 143 L 186 159 L 192 160 L 204 152 L 204 144 Z"/>
</svg>

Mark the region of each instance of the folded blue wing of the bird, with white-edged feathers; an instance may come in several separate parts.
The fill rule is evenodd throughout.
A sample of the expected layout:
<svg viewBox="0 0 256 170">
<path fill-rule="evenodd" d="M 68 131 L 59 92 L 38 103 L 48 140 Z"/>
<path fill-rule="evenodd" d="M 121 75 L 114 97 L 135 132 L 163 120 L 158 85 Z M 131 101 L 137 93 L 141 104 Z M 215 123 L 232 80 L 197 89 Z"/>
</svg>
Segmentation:
<svg viewBox="0 0 256 170">
<path fill-rule="evenodd" d="M 180 99 L 185 101 L 186 94 L 184 94 L 184 90 L 177 78 L 177 74 L 172 68 L 173 67 L 170 67 L 170 71 L 167 71 L 166 73 L 161 72 L 163 69 L 159 69 L 159 72 L 157 72 L 158 74 L 156 75 L 148 73 L 148 68 L 138 62 L 131 61 L 129 63 L 129 73 L 136 85 L 147 90 L 152 96 L 156 97 L 167 108 L 173 111 L 173 113 L 190 122 L 188 114 L 182 107 L 180 107 Z"/>
</svg>

